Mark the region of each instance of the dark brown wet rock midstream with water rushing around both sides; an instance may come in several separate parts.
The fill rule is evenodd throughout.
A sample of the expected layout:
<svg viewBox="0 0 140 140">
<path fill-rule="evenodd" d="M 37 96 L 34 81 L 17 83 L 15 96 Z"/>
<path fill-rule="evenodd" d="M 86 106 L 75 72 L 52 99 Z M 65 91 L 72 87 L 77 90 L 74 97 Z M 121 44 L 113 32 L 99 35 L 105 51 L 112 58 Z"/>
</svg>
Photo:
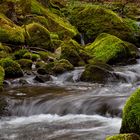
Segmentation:
<svg viewBox="0 0 140 140">
<path fill-rule="evenodd" d="M 114 75 L 111 66 L 101 62 L 95 62 L 93 64 L 88 64 L 85 67 L 80 80 L 85 82 L 104 83 L 112 77 L 114 77 Z"/>
</svg>

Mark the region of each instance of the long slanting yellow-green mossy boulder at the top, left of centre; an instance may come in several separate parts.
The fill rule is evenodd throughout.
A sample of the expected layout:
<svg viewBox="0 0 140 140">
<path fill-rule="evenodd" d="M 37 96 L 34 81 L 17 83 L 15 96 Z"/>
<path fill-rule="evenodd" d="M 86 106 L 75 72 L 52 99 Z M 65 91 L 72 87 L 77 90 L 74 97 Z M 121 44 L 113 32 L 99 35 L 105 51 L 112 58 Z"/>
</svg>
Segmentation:
<svg viewBox="0 0 140 140">
<path fill-rule="evenodd" d="M 41 24 L 47 27 L 49 31 L 57 33 L 60 39 L 63 40 L 65 38 L 72 38 L 78 34 L 76 28 L 72 26 L 67 19 L 53 14 L 48 8 L 43 7 L 38 1 L 32 1 L 31 10 L 32 14 L 44 16 L 47 20 Z"/>
</svg>

